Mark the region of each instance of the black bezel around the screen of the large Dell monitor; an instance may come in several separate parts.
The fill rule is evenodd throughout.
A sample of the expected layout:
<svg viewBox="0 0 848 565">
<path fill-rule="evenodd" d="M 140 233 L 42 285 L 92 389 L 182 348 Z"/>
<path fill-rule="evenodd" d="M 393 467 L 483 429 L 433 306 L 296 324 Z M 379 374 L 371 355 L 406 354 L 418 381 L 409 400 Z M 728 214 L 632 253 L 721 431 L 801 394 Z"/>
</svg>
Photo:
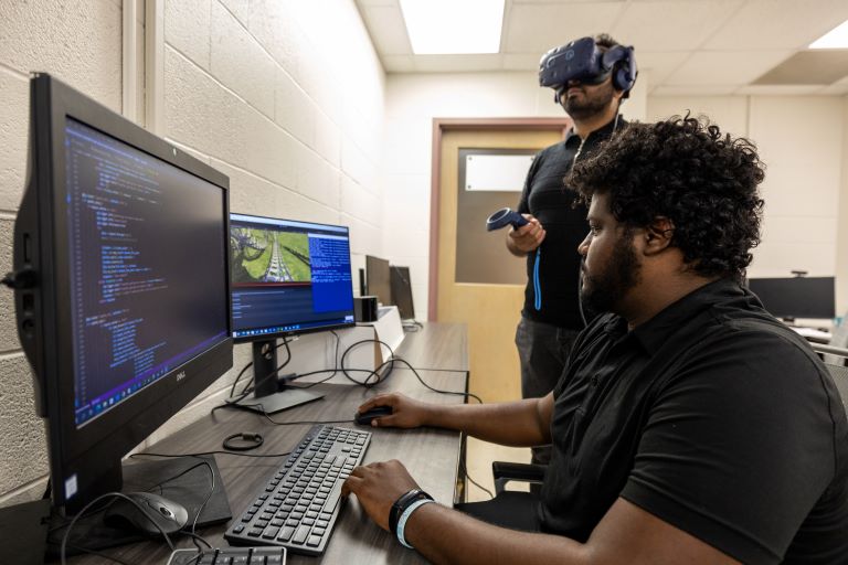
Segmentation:
<svg viewBox="0 0 848 565">
<path fill-rule="evenodd" d="M 226 328 L 222 338 L 123 401 L 120 409 L 104 412 L 78 428 L 74 417 L 73 299 L 64 188 L 67 118 L 218 186 L 226 250 L 222 265 Z M 232 367 L 229 179 L 44 73 L 31 79 L 30 135 L 29 179 L 15 222 L 14 263 L 17 270 L 30 268 L 38 274 L 38 287 L 15 292 L 19 337 L 33 366 L 36 409 L 47 420 L 53 503 L 76 509 L 95 493 L 119 490 L 123 457 Z M 28 294 L 29 299 L 24 299 Z M 24 300 L 35 305 L 29 313 Z M 35 324 L 34 332 L 30 331 L 32 338 L 24 331 L 25 323 Z"/>
</svg>

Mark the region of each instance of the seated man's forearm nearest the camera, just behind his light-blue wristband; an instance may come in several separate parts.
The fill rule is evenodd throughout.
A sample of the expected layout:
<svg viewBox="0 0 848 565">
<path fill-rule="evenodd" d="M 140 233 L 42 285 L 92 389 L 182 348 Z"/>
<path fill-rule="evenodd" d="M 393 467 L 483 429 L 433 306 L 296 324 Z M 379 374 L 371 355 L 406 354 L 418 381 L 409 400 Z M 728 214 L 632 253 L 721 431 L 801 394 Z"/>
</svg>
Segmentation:
<svg viewBox="0 0 848 565">
<path fill-rule="evenodd" d="M 585 546 L 568 537 L 494 526 L 438 504 L 416 510 L 404 537 L 433 563 L 587 563 Z"/>
</svg>

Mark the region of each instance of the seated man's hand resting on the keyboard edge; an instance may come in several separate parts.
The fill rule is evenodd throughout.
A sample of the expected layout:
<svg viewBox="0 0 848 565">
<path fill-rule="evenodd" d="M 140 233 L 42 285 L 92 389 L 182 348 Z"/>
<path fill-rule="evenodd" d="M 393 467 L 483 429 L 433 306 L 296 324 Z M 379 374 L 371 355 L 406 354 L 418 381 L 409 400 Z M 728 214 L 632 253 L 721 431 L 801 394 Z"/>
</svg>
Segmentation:
<svg viewBox="0 0 848 565">
<path fill-rule="evenodd" d="M 388 531 L 389 512 L 394 501 L 418 488 L 403 463 L 393 459 L 354 467 L 341 487 L 341 495 L 356 494 L 371 520 Z"/>
</svg>

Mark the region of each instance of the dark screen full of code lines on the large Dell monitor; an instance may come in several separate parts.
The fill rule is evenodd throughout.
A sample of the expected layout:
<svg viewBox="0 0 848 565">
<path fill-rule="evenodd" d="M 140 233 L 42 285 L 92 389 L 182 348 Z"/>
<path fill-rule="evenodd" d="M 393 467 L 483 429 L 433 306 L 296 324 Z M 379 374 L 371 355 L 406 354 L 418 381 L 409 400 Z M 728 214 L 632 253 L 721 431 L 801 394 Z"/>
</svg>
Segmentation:
<svg viewBox="0 0 848 565">
<path fill-rule="evenodd" d="M 223 201 L 216 186 L 83 124 L 68 119 L 65 132 L 81 425 L 225 335 Z"/>
</svg>

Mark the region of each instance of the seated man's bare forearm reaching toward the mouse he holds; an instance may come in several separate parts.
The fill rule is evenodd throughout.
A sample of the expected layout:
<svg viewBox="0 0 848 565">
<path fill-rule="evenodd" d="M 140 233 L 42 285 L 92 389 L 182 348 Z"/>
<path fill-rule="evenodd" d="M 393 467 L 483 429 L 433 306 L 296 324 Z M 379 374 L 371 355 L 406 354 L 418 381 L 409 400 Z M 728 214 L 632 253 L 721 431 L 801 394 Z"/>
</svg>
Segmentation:
<svg viewBox="0 0 848 565">
<path fill-rule="evenodd" d="M 540 398 L 478 404 L 433 405 L 427 426 L 456 429 L 495 444 L 530 447 L 550 444 L 550 422 L 540 407 Z"/>
</svg>

